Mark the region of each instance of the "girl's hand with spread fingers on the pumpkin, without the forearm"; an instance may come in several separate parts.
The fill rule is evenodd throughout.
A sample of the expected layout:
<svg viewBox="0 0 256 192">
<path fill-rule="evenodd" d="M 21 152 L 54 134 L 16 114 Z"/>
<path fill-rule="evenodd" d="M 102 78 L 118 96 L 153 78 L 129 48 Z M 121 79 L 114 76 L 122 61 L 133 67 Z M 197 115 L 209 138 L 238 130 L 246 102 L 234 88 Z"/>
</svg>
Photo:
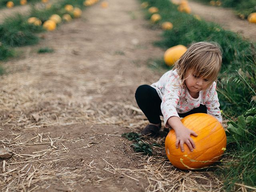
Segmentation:
<svg viewBox="0 0 256 192">
<path fill-rule="evenodd" d="M 194 141 L 190 137 L 190 134 L 197 136 L 197 134 L 194 131 L 182 125 L 175 129 L 175 134 L 176 134 L 175 146 L 177 149 L 179 147 L 179 143 L 180 143 L 180 149 L 182 152 L 184 152 L 184 143 L 187 144 L 190 151 L 193 151 L 193 148 L 196 148 Z"/>
</svg>

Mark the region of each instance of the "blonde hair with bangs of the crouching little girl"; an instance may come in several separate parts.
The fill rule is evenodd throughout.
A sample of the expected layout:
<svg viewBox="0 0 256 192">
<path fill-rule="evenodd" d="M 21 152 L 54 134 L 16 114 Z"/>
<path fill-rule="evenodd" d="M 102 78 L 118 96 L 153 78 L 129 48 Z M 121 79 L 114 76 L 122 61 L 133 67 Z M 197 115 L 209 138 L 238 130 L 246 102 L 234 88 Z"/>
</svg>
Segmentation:
<svg viewBox="0 0 256 192">
<path fill-rule="evenodd" d="M 185 76 L 192 70 L 194 75 L 208 80 L 207 88 L 217 80 L 222 63 L 222 50 L 216 42 L 197 42 L 175 63 L 181 86 L 185 86 Z"/>
</svg>

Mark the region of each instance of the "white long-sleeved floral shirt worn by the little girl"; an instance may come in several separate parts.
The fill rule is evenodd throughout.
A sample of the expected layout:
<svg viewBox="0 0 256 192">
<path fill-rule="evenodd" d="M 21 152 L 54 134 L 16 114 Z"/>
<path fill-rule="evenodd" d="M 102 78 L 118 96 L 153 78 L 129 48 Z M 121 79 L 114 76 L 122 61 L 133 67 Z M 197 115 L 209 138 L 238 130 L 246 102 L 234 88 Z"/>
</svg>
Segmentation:
<svg viewBox="0 0 256 192">
<path fill-rule="evenodd" d="M 214 116 L 222 123 L 220 103 L 216 92 L 216 82 L 199 92 L 198 98 L 190 96 L 188 89 L 182 87 L 176 70 L 166 72 L 157 82 L 151 84 L 162 100 L 161 110 L 164 116 L 164 125 L 170 127 L 167 120 L 172 116 L 179 117 L 178 113 L 186 113 L 194 108 L 205 105 L 207 114 Z"/>
</svg>

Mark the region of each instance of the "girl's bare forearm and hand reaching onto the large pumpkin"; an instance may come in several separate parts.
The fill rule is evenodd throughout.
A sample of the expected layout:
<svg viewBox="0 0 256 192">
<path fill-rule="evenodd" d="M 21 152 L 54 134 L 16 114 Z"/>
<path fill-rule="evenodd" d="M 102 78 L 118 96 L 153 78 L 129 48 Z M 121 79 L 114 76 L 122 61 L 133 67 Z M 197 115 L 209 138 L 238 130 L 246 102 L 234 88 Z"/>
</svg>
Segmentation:
<svg viewBox="0 0 256 192">
<path fill-rule="evenodd" d="M 186 143 L 190 151 L 193 151 L 193 148 L 196 148 L 196 145 L 190 135 L 192 134 L 194 136 L 197 136 L 197 134 L 194 131 L 186 128 L 180 121 L 180 118 L 176 116 L 170 117 L 167 122 L 175 131 L 176 148 L 178 149 L 180 144 L 180 149 L 182 152 L 184 152 L 184 143 Z"/>
</svg>

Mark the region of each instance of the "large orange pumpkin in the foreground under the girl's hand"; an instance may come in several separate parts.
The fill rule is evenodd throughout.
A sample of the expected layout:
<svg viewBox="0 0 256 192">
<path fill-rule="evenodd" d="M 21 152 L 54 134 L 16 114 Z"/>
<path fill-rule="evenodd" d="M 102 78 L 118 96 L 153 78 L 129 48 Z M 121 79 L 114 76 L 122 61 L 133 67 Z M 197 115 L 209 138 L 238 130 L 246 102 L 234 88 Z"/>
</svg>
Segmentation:
<svg viewBox="0 0 256 192">
<path fill-rule="evenodd" d="M 199 169 L 213 164 L 220 159 L 226 150 L 226 134 L 221 123 L 216 118 L 205 113 L 196 113 L 186 116 L 182 124 L 198 134 L 192 136 L 196 148 L 191 152 L 184 144 L 184 152 L 180 146 L 175 146 L 176 135 L 170 130 L 165 139 L 166 154 L 170 162 L 179 169 Z"/>
</svg>

